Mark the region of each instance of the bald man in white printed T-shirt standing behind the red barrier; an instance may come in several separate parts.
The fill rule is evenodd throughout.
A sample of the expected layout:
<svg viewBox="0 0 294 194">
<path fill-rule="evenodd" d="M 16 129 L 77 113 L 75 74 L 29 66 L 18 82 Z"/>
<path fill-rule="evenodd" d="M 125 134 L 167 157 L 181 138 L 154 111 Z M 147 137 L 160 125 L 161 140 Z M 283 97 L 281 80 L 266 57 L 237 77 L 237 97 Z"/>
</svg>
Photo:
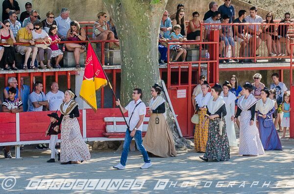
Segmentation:
<svg viewBox="0 0 294 194">
<path fill-rule="evenodd" d="M 58 90 L 58 84 L 52 82 L 51 91 L 46 94 L 48 99 L 48 105 L 46 106 L 49 110 L 60 110 L 60 105 L 64 102 L 64 93 Z"/>
</svg>

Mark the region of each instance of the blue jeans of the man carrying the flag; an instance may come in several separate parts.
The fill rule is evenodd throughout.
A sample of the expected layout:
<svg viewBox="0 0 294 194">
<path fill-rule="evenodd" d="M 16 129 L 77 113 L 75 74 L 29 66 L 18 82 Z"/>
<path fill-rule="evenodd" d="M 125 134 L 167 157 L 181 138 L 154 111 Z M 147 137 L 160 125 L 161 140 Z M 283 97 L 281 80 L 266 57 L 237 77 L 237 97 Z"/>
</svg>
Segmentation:
<svg viewBox="0 0 294 194">
<path fill-rule="evenodd" d="M 143 143 L 142 143 L 142 131 L 141 130 L 136 130 L 136 133 L 135 133 L 134 137 L 135 137 L 137 149 L 139 151 L 141 151 L 141 153 L 143 155 L 143 158 L 144 158 L 144 162 L 145 163 L 151 162 L 149 157 L 148 157 L 147 151 L 144 148 Z M 125 166 L 126 159 L 127 159 L 127 154 L 128 154 L 129 149 L 130 149 L 130 144 L 131 144 L 132 139 L 133 139 L 133 137 L 131 137 L 129 130 L 127 129 L 126 132 L 125 132 L 124 143 L 123 143 L 123 153 L 122 153 L 122 156 L 121 156 L 121 164 L 123 166 Z"/>
</svg>

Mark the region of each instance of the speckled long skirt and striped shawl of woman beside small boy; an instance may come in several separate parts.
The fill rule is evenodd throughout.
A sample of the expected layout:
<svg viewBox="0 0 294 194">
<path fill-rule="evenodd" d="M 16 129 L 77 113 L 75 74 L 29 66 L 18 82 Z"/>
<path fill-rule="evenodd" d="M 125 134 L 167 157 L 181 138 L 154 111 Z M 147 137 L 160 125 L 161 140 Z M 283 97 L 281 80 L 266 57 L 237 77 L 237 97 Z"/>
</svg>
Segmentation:
<svg viewBox="0 0 294 194">
<path fill-rule="evenodd" d="M 69 105 L 62 103 L 60 106 L 61 117 L 63 115 L 73 115 L 73 109 L 77 108 L 77 103 L 72 100 Z M 70 132 L 74 130 L 77 137 L 69 140 Z M 61 122 L 61 145 L 60 162 L 90 160 L 91 155 L 87 144 L 84 142 L 77 118 L 63 118 Z"/>
</svg>

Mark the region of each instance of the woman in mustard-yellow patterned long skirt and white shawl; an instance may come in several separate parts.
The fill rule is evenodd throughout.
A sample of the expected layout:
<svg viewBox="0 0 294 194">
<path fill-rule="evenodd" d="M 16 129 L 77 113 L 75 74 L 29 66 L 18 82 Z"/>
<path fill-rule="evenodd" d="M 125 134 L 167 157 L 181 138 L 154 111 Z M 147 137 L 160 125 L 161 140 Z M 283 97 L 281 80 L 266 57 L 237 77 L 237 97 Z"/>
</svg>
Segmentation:
<svg viewBox="0 0 294 194">
<path fill-rule="evenodd" d="M 208 92 L 209 88 L 210 86 L 208 85 L 207 81 L 204 81 L 201 85 L 202 93 L 198 94 L 195 98 L 196 112 L 199 115 L 199 124 L 196 124 L 195 127 L 194 145 L 195 151 L 200 153 L 205 152 L 208 138 L 208 120 L 205 121 L 203 126 L 202 123 L 207 111 L 207 103 L 211 97 L 211 94 Z"/>
</svg>

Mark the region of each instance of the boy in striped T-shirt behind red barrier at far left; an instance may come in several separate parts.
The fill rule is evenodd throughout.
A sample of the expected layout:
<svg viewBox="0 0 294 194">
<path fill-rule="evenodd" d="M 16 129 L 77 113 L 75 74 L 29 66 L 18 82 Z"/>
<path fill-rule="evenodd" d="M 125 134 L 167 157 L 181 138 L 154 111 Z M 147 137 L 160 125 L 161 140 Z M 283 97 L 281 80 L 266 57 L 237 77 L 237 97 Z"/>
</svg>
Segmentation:
<svg viewBox="0 0 294 194">
<path fill-rule="evenodd" d="M 2 109 L 3 112 L 12 112 L 12 113 L 17 113 L 17 112 L 23 112 L 23 103 L 22 101 L 16 97 L 17 91 L 16 88 L 11 87 L 8 90 L 8 98 L 4 100 L 2 103 Z M 10 146 L 5 146 L 3 149 L 4 152 L 4 157 L 5 158 L 12 158 L 11 153 L 10 153 Z"/>
</svg>

